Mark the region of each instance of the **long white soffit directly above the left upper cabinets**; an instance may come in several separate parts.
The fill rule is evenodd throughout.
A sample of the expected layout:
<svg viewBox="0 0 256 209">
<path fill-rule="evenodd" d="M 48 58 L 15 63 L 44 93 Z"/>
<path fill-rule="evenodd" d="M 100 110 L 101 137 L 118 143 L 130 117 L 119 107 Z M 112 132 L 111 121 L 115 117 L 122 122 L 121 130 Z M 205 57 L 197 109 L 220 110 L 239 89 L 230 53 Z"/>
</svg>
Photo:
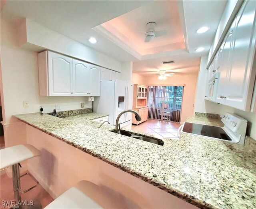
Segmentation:
<svg viewBox="0 0 256 209">
<path fill-rule="evenodd" d="M 121 72 L 121 62 L 29 19 L 22 20 L 18 29 L 19 45 L 24 45 L 23 47 L 38 46 L 41 51 L 43 48 L 53 50 Z"/>
</svg>

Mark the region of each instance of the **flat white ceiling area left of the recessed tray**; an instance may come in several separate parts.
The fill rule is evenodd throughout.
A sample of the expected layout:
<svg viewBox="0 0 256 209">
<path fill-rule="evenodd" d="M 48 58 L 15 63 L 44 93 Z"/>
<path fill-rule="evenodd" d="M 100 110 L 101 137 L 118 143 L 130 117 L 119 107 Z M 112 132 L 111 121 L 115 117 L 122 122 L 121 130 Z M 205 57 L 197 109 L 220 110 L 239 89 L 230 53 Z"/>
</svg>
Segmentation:
<svg viewBox="0 0 256 209">
<path fill-rule="evenodd" d="M 112 58 L 128 61 L 136 58 L 98 34 L 95 30 L 92 30 L 92 28 L 148 2 L 152 2 L 152 0 L 7 0 L 1 11 L 1 18 L 11 22 L 17 22 L 21 18 L 28 18 Z M 88 41 L 91 36 L 98 40 L 97 44 L 91 44 Z"/>
</svg>

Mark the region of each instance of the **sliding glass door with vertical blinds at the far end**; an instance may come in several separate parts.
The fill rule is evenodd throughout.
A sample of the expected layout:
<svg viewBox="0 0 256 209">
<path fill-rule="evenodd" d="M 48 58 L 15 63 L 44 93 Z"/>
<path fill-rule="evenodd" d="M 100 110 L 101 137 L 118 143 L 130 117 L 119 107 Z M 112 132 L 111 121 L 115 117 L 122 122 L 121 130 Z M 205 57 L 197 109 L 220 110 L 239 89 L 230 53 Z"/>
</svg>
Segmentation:
<svg viewBox="0 0 256 209">
<path fill-rule="evenodd" d="M 180 122 L 183 86 L 148 86 L 148 119 Z"/>
</svg>

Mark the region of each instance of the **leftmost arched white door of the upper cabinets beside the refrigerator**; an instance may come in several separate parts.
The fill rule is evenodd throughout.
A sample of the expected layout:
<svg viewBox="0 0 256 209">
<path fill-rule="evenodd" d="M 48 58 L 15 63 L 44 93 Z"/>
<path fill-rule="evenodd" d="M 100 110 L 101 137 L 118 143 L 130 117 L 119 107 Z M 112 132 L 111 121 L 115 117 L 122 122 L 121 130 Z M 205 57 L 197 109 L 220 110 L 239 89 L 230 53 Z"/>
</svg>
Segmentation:
<svg viewBox="0 0 256 209">
<path fill-rule="evenodd" d="M 72 58 L 48 52 L 49 96 L 72 96 Z"/>
</svg>

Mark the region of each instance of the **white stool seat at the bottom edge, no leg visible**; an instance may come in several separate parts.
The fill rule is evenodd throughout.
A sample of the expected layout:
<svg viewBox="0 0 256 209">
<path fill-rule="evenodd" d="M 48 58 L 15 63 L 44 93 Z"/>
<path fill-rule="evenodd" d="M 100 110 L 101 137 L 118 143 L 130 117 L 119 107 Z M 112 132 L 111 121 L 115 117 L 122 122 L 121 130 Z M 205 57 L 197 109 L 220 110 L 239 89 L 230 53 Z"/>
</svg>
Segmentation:
<svg viewBox="0 0 256 209">
<path fill-rule="evenodd" d="M 90 181 L 80 181 L 76 187 L 71 187 L 65 191 L 45 209 L 111 208 L 112 204 L 113 199 L 110 199 L 98 185 Z"/>
</svg>

